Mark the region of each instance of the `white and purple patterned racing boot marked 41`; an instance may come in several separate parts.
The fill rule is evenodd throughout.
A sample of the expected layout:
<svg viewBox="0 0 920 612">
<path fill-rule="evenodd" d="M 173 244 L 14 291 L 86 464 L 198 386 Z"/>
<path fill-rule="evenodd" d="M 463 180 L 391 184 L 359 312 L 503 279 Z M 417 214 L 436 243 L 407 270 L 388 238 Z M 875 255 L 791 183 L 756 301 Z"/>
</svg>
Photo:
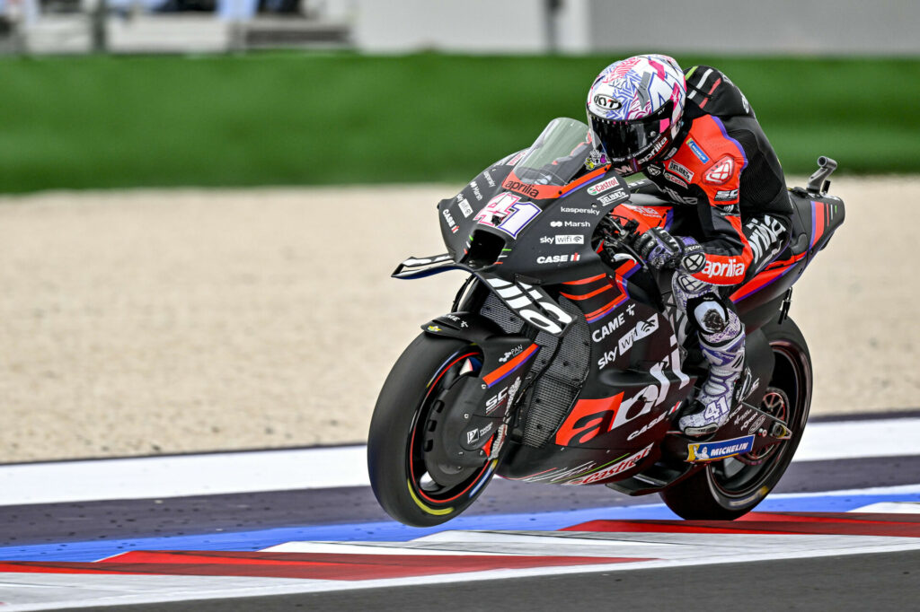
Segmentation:
<svg viewBox="0 0 920 612">
<path fill-rule="evenodd" d="M 744 366 L 744 326 L 737 318 L 731 323 L 737 323 L 733 337 L 722 338 L 719 343 L 700 338 L 699 345 L 709 362 L 709 375 L 696 396 L 696 412 L 678 421 L 687 436 L 712 434 L 729 420 L 735 383 Z"/>
</svg>

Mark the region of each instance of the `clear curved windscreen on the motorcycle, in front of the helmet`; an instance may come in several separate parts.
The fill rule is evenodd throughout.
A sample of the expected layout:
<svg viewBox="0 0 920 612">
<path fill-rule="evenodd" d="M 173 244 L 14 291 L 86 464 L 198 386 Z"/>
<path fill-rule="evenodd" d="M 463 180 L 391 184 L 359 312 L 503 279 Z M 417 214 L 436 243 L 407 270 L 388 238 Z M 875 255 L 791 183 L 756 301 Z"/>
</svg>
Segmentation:
<svg viewBox="0 0 920 612">
<path fill-rule="evenodd" d="M 553 119 L 531 145 L 514 174 L 531 185 L 568 185 L 592 152 L 590 130 L 576 119 Z"/>
</svg>

